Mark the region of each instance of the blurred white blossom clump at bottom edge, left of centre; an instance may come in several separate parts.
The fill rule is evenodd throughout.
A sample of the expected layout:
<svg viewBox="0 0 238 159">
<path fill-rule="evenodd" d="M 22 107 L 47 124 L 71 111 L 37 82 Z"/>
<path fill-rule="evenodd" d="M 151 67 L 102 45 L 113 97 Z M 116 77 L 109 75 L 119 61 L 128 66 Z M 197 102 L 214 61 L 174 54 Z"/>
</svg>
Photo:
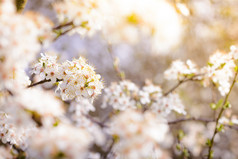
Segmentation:
<svg viewBox="0 0 238 159">
<path fill-rule="evenodd" d="M 84 128 L 60 123 L 56 127 L 40 128 L 29 139 L 27 149 L 30 158 L 84 159 L 92 142 Z"/>
</svg>

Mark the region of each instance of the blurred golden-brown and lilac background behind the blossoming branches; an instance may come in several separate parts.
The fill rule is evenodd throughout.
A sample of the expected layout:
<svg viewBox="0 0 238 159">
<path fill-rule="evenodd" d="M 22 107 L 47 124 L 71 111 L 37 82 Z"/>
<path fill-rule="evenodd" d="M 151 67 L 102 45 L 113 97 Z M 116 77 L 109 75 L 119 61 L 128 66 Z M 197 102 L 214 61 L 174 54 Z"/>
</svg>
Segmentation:
<svg viewBox="0 0 238 159">
<path fill-rule="evenodd" d="M 39 12 L 50 18 L 57 26 L 56 13 L 52 7 L 54 2 L 54 0 L 28 0 L 25 11 Z M 75 33 L 61 36 L 42 51 L 57 52 L 62 61 L 78 56 L 86 57 L 89 63 L 96 67 L 97 72 L 102 75 L 105 86 L 108 86 L 112 81 L 119 81 L 113 69 L 113 58 L 118 57 L 120 68 L 125 72 L 127 79 L 139 86 L 142 86 L 146 79 L 150 79 L 161 85 L 166 91 L 176 84 L 174 81 L 166 81 L 163 77 L 164 71 L 172 61 L 191 59 L 199 67 L 202 67 L 207 64 L 209 56 L 215 51 L 228 52 L 231 45 L 237 44 L 237 0 L 163 0 L 161 2 L 163 3 L 161 5 L 166 3 L 169 7 L 162 9 L 164 6 L 161 6 L 161 8 L 151 9 L 160 10 L 154 20 L 159 21 L 163 17 L 166 19 L 158 24 L 161 28 L 156 44 L 154 44 L 153 38 L 143 35 L 136 43 L 120 41 L 108 44 L 100 32 L 83 37 Z M 168 32 L 166 32 L 167 28 L 169 28 Z M 163 32 L 166 34 L 163 35 Z M 214 112 L 210 109 L 209 104 L 221 98 L 216 88 L 212 86 L 203 88 L 195 82 L 183 84 L 177 92 L 180 94 L 188 114 L 195 117 L 212 118 Z M 231 94 L 232 112 L 228 110 L 225 113 L 228 116 L 238 113 L 237 92 L 238 90 L 235 88 Z M 96 104 L 100 105 L 100 98 Z M 98 109 L 99 115 L 104 113 L 104 110 Z M 179 116 L 172 115 L 171 119 L 176 117 Z M 180 129 L 183 129 L 186 134 L 184 143 L 194 158 L 201 158 L 207 153 L 204 147 L 206 138 L 210 136 L 209 128 L 213 128 L 212 125 L 187 122 L 171 128 L 175 136 Z M 227 129 L 225 133 L 220 133 L 216 140 L 216 143 L 219 144 L 214 147 L 214 157 L 238 158 L 237 139 L 236 130 Z M 174 153 L 176 152 L 174 151 Z"/>
</svg>

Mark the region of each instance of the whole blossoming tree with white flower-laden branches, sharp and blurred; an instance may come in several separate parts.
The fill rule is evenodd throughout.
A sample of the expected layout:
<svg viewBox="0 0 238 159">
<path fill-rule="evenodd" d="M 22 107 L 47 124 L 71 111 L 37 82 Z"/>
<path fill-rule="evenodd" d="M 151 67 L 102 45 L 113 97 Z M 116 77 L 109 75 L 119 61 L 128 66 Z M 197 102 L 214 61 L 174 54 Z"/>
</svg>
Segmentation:
<svg viewBox="0 0 238 159">
<path fill-rule="evenodd" d="M 150 41 L 154 53 L 174 48 L 183 33 L 177 12 L 188 16 L 186 5 L 62 0 L 51 4 L 55 23 L 24 5 L 0 0 L 0 158 L 211 159 L 219 134 L 238 130 L 229 99 L 238 75 L 235 46 L 215 52 L 200 67 L 192 60 L 173 61 L 163 73 L 169 88 L 150 79 L 143 85 L 129 80 L 112 54 L 113 46 L 141 39 Z M 73 34 L 104 39 L 119 80 L 103 80 L 82 56 L 62 61 L 60 53 L 45 51 Z M 213 116 L 187 111 L 177 90 L 189 81 L 217 88 L 221 99 L 207 105 Z"/>
</svg>

